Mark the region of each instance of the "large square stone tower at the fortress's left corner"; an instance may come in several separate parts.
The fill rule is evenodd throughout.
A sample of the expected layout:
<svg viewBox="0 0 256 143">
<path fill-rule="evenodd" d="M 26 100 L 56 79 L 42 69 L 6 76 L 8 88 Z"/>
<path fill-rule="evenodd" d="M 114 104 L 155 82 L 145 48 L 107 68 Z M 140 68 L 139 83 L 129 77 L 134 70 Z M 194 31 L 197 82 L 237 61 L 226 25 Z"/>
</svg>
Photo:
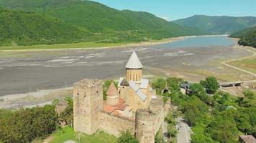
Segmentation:
<svg viewBox="0 0 256 143">
<path fill-rule="evenodd" d="M 83 79 L 74 84 L 73 113 L 76 132 L 93 134 L 99 129 L 103 109 L 103 84 L 97 79 Z"/>
</svg>

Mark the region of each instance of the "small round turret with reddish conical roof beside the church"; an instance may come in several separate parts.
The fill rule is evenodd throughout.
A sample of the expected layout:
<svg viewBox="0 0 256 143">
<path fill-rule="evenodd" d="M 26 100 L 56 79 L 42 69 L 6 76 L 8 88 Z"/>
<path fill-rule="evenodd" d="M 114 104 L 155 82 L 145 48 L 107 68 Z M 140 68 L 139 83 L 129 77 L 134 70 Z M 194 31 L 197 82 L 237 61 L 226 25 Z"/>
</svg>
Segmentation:
<svg viewBox="0 0 256 143">
<path fill-rule="evenodd" d="M 114 82 L 111 82 L 108 91 L 106 91 L 106 103 L 112 106 L 116 106 L 119 103 L 119 94 L 114 86 Z"/>
</svg>

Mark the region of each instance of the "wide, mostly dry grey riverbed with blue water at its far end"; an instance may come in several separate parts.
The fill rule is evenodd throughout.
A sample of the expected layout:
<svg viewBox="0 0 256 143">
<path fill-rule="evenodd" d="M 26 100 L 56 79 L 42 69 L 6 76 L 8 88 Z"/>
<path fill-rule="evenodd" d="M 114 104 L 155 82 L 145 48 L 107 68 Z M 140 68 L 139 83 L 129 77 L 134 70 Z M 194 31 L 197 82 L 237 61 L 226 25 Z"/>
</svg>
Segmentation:
<svg viewBox="0 0 256 143">
<path fill-rule="evenodd" d="M 225 79 L 227 75 L 231 79 L 240 73 L 227 70 L 217 61 L 250 55 L 234 48 L 235 44 L 227 36 L 192 36 L 166 44 L 122 49 L 0 52 L 0 96 L 72 87 L 85 78 L 124 76 L 132 51 L 140 57 L 145 75 L 178 76 L 193 81 L 215 73 L 223 74 L 219 76 L 223 77 L 221 80 L 229 80 Z"/>
</svg>

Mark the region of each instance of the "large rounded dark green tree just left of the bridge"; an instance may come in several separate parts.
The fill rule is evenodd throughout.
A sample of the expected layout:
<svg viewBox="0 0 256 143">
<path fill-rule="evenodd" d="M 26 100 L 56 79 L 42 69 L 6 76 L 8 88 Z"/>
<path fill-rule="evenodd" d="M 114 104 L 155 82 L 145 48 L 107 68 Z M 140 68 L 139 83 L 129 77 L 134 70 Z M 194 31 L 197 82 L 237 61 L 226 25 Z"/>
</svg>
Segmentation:
<svg viewBox="0 0 256 143">
<path fill-rule="evenodd" d="M 219 89 L 219 82 L 215 77 L 207 77 L 205 81 L 200 82 L 206 88 L 206 92 L 214 94 Z"/>
</svg>

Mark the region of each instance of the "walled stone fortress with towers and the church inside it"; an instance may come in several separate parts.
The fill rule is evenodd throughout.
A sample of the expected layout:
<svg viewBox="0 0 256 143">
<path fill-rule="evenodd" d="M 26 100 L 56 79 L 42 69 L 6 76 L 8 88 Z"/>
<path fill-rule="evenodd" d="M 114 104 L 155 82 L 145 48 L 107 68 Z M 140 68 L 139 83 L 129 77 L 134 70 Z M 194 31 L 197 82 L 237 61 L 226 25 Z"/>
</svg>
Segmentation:
<svg viewBox="0 0 256 143">
<path fill-rule="evenodd" d="M 135 52 L 129 58 L 126 77 L 121 77 L 117 89 L 112 82 L 103 99 L 103 83 L 83 79 L 74 84 L 73 109 L 76 132 L 93 134 L 103 130 L 119 136 L 127 129 L 140 143 L 154 143 L 155 134 L 170 110 L 157 97 L 148 79 L 142 78 L 142 64 Z"/>
</svg>

